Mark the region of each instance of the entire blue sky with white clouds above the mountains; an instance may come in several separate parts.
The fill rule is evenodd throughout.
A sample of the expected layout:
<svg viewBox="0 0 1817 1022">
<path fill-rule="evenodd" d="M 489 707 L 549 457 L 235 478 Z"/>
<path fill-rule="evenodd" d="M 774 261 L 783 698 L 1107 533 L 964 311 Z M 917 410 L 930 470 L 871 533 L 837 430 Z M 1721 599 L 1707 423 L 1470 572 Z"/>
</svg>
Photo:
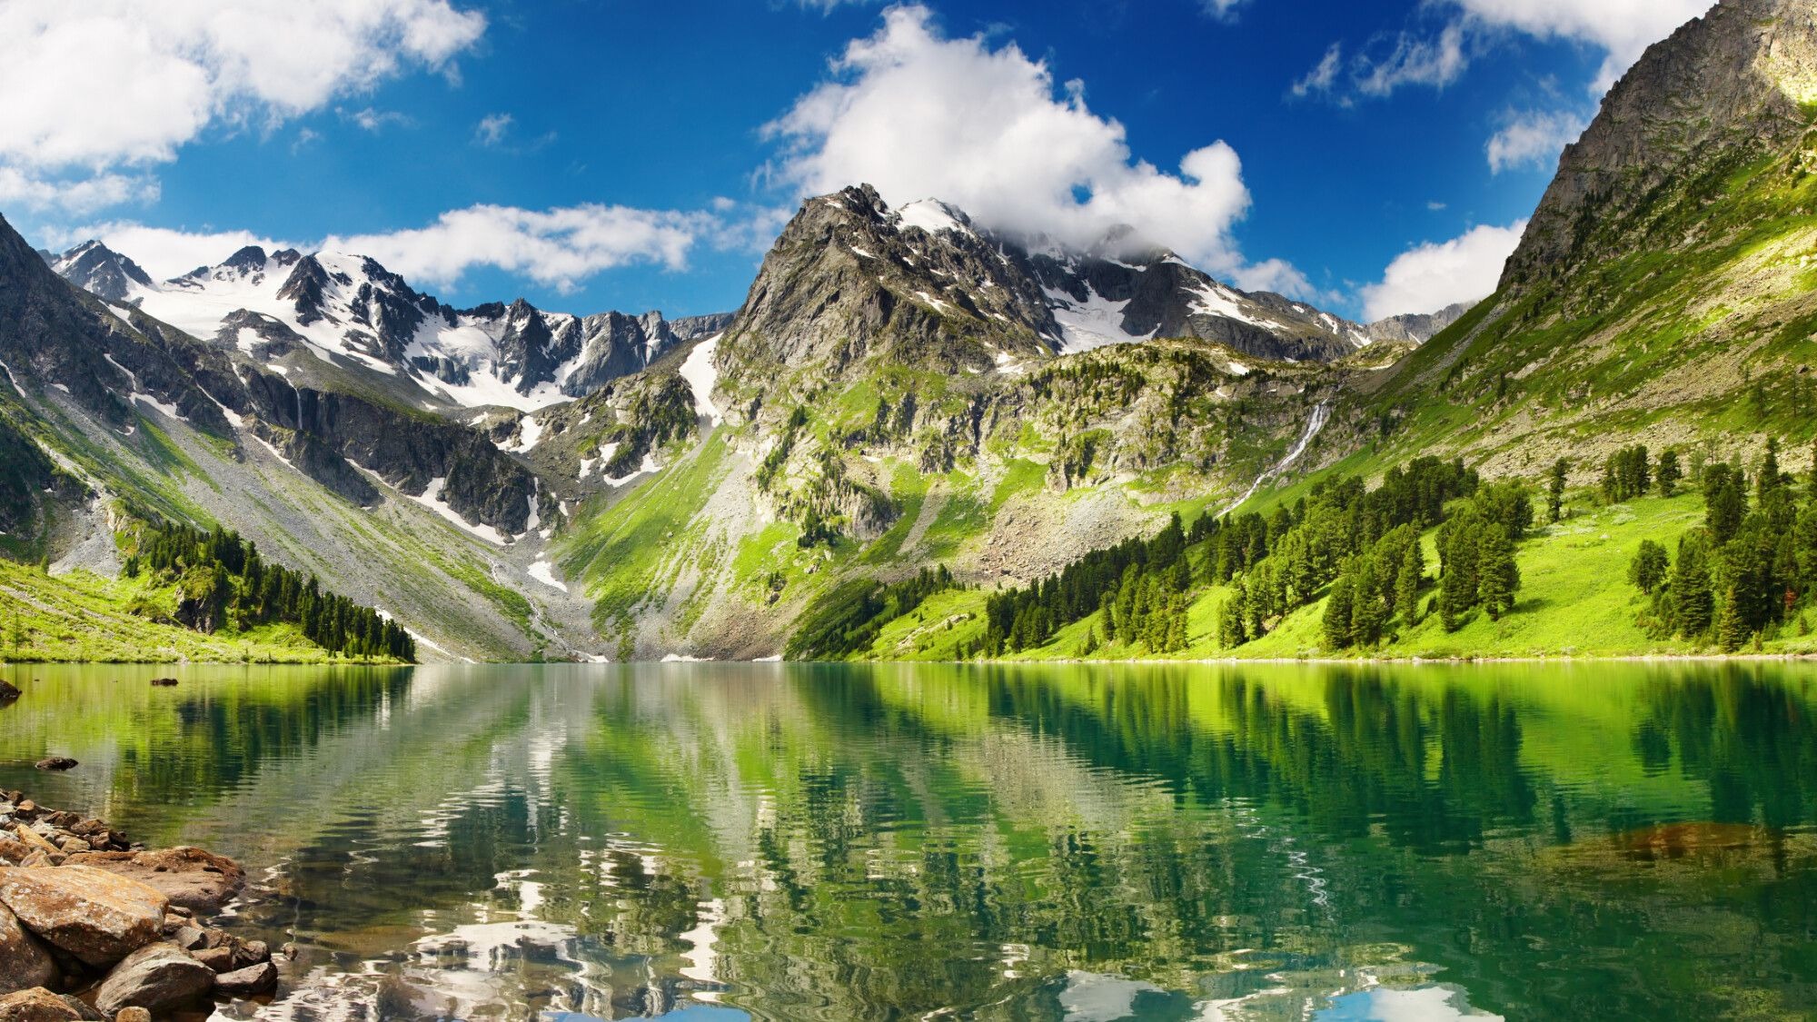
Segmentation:
<svg viewBox="0 0 1817 1022">
<path fill-rule="evenodd" d="M 740 304 L 801 195 L 863 178 L 1426 311 L 1486 293 L 1559 145 L 1699 7 L 16 0 L 0 213 L 154 273 L 329 244 L 458 304 L 689 315 Z"/>
</svg>

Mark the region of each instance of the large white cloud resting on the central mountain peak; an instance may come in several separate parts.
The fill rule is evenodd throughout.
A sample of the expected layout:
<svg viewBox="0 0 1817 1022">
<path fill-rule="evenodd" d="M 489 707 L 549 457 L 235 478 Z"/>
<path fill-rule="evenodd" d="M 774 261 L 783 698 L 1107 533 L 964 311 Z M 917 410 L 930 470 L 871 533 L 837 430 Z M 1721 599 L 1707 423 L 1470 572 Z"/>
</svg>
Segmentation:
<svg viewBox="0 0 1817 1022">
<path fill-rule="evenodd" d="M 785 145 L 774 171 L 805 193 L 870 182 L 890 204 L 936 196 L 1081 245 L 1130 224 L 1214 273 L 1245 267 L 1230 227 L 1250 195 L 1230 145 L 1194 149 L 1176 171 L 1137 160 L 1081 82 L 1056 87 L 1016 44 L 947 38 L 927 7 L 885 11 L 765 133 Z"/>
</svg>

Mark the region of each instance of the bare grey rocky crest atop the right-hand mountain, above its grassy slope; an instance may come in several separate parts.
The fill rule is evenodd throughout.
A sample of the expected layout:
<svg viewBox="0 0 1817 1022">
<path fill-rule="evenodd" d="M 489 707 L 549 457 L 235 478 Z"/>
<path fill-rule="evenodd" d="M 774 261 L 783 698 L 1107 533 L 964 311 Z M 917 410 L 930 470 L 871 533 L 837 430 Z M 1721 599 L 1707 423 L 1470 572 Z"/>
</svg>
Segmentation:
<svg viewBox="0 0 1817 1022">
<path fill-rule="evenodd" d="M 1643 225 L 1664 184 L 1733 169 L 1782 149 L 1817 104 L 1817 7 L 1810 0 L 1723 0 L 1653 44 L 1603 98 L 1503 271 L 1503 287 L 1568 273 L 1592 227 Z M 1643 215 L 1643 220 L 1635 220 Z"/>
</svg>

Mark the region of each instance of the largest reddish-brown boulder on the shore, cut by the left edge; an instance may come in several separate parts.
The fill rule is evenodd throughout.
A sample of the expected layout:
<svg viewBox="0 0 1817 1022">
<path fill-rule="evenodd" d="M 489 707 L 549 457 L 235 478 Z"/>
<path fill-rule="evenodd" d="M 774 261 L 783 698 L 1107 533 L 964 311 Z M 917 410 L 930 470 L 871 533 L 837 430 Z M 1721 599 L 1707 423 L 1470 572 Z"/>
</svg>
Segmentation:
<svg viewBox="0 0 1817 1022">
<path fill-rule="evenodd" d="M 87 866 L 0 867 L 0 904 L 45 942 L 107 966 L 158 938 L 169 898 Z"/>
</svg>

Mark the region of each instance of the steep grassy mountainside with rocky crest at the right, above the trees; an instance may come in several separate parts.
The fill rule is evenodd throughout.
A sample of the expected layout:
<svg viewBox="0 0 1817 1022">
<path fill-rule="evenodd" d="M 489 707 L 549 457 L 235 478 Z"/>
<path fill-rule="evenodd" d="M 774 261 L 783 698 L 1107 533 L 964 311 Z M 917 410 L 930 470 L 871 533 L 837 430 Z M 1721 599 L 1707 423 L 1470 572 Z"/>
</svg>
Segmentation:
<svg viewBox="0 0 1817 1022">
<path fill-rule="evenodd" d="M 1368 380 L 1337 436 L 1594 482 L 1624 444 L 1759 456 L 1817 422 L 1817 13 L 1724 0 L 1610 89 L 1497 293 Z"/>
</svg>

